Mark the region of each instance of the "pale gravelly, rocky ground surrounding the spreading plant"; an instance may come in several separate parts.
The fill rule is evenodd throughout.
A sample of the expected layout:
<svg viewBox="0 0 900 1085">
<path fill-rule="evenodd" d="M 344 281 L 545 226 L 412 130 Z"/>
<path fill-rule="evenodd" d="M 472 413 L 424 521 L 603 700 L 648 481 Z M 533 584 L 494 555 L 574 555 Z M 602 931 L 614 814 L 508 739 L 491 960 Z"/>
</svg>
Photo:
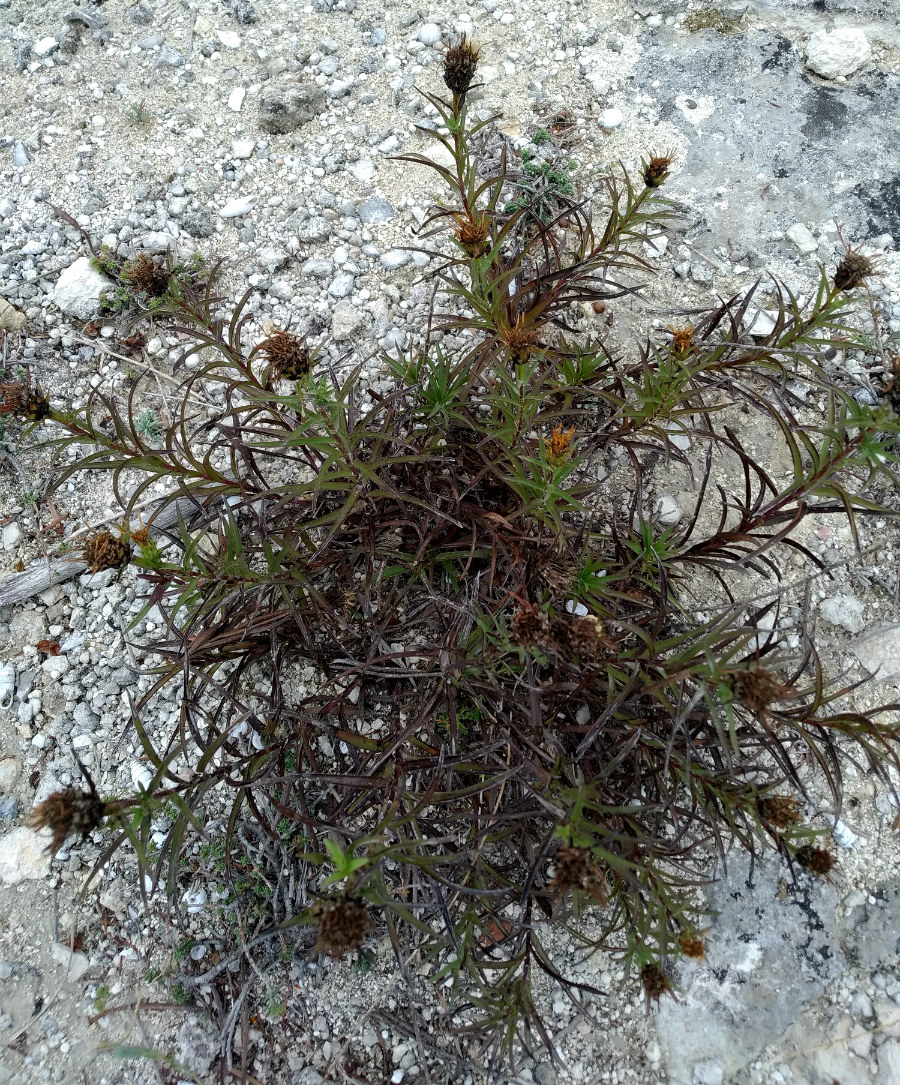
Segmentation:
<svg viewBox="0 0 900 1085">
<path fill-rule="evenodd" d="M 685 0 L 483 0 L 454 10 L 392 0 L 0 0 L 8 356 L 21 337 L 31 378 L 76 405 L 149 363 L 157 380 L 144 393 L 143 424 L 152 432 L 168 417 L 177 337 L 153 333 L 143 356 L 122 354 L 115 319 L 99 316 L 106 283 L 56 208 L 125 257 L 172 246 L 179 257 L 226 256 L 230 295 L 256 290 L 251 337 L 290 326 L 334 357 L 350 346 L 365 356 L 415 344 L 428 258 L 405 246 L 433 180 L 392 155 L 428 150 L 417 126 L 433 114 L 415 88 L 439 89 L 443 44 L 474 33 L 484 86 L 473 108 L 499 111 L 500 131 L 520 148 L 569 111 L 576 189 L 590 193 L 616 161 L 634 168 L 642 154 L 677 155 L 668 194 L 681 214 L 648 251 L 658 275 L 642 299 L 610 306 L 613 335 L 626 342 L 760 276 L 809 292 L 817 261 L 834 266 L 842 233 L 878 255 L 871 303 L 880 339 L 863 306 L 859 341 L 829 361 L 874 403 L 884 353 L 891 336 L 895 349 L 900 342 L 896 15 L 887 0 L 741 0 L 715 11 Z M 112 492 L 97 480 L 76 477 L 53 506 L 38 502 L 47 454 L 17 444 L 13 426 L 0 448 L 9 576 L 60 533 L 116 519 Z M 655 485 L 660 508 L 689 508 L 687 480 L 663 474 Z M 875 673 L 851 694 L 860 709 L 900 700 L 897 529 L 866 526 L 862 556 L 834 525 L 811 524 L 807 541 L 832 565 L 810 586 L 829 673 Z M 188 1072 L 205 1081 L 217 1054 L 203 1016 L 173 1008 L 159 983 L 183 963 L 185 944 L 198 973 L 217 967 L 215 890 L 197 891 L 190 927 L 179 930 L 162 903 L 143 911 L 123 860 L 77 904 L 100 844 L 51 864 L 21 826 L 33 803 L 76 778 L 73 751 L 103 792 L 147 771 L 128 694 L 145 682 L 135 678 L 143 656 L 134 646 L 153 633 L 152 614 L 124 633 L 138 592 L 128 571 L 80 576 L 0 610 L 0 1083 L 164 1082 Z M 41 640 L 60 653 L 39 651 Z M 156 725 L 177 718 L 176 693 L 157 700 Z M 531 1060 L 516 1080 L 896 1085 L 900 822 L 890 796 L 862 774 L 850 773 L 847 787 L 834 883 L 785 882 L 774 863 L 750 870 L 737 858 L 720 870 L 709 891 L 719 912 L 709 960 L 676 978 L 679 1001 L 646 1016 L 634 986 L 620 991 L 613 965 L 575 963 L 558 941 L 560 961 L 610 996 L 585 1016 L 560 992 L 543 992 L 565 1069 Z M 827 819 L 824 795 L 810 813 Z M 198 868 L 214 885 L 207 858 Z M 344 1056 L 357 1049 L 377 1068 L 367 1081 L 441 1080 L 442 1060 L 448 1080 L 484 1077 L 465 1049 L 454 1062 L 429 1047 L 428 1003 L 404 1022 L 386 941 L 368 971 L 296 959 L 266 981 L 270 1012 L 245 1037 L 259 1080 L 358 1080 L 342 1077 Z M 136 1012 L 138 998 L 150 1008 Z"/>
</svg>

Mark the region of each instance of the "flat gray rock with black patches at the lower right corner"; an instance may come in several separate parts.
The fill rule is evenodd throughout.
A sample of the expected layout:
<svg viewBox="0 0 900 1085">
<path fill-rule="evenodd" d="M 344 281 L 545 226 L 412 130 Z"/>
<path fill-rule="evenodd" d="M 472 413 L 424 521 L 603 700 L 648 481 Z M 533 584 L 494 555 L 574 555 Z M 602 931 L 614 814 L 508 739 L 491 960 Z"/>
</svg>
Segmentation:
<svg viewBox="0 0 900 1085">
<path fill-rule="evenodd" d="M 683 963 L 679 1001 L 664 999 L 659 1009 L 671 1081 L 699 1085 L 715 1076 L 717 1067 L 720 1081 L 748 1080 L 753 1059 L 778 1045 L 829 984 L 850 968 L 874 971 L 898 959 L 900 884 L 883 886 L 874 903 L 866 897 L 848 911 L 834 886 L 799 867 L 793 880 L 774 858 L 751 870 L 741 856 L 730 859 L 727 876 L 708 895 L 717 912 L 708 960 Z"/>
</svg>

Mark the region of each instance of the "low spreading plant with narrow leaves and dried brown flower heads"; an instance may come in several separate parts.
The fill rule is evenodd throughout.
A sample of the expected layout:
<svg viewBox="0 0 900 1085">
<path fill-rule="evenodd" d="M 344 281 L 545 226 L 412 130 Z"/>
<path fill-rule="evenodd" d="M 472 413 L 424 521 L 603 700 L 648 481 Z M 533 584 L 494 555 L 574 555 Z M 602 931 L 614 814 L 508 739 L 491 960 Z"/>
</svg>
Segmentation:
<svg viewBox="0 0 900 1085">
<path fill-rule="evenodd" d="M 490 122 L 467 111 L 466 49 L 448 54 L 452 101 L 427 95 L 453 165 L 405 156 L 447 194 L 422 231 L 440 264 L 429 332 L 382 359 L 391 391 L 290 331 L 248 348 L 250 292 L 226 311 L 215 268 L 144 259 L 113 270 L 124 308 L 152 307 L 189 337 L 180 414 L 151 429 L 139 380 L 79 410 L 35 390 L 3 403 L 49 414 L 61 450 L 84 448 L 56 485 L 113 472 L 125 524 L 106 550 L 118 567 L 123 539 L 137 545 L 147 608 L 163 615 L 135 704 L 153 780 L 110 807 L 88 796 L 88 828 L 102 813 L 114 832 L 101 861 L 131 841 L 175 904 L 189 843 L 212 826 L 217 869 L 244 886 L 228 903 L 248 905 L 241 936 L 315 923 L 316 952 L 340 956 L 386 929 L 451 981 L 452 1012 L 506 1049 L 547 1038 L 535 972 L 593 990 L 558 971 L 538 920 L 621 955 L 649 1003 L 671 990 L 672 958 L 702 956 L 695 890 L 717 853 L 770 847 L 832 871 L 803 824 L 810 767 L 838 810 L 847 758 L 882 776 L 898 765 L 896 706 L 838 706 L 846 689 L 811 638 L 790 652 L 771 620 L 784 556 L 821 564 L 797 536 L 807 518 L 855 531 L 895 514 L 900 424 L 819 360 L 849 335 L 851 292 L 873 270 L 852 251 L 806 302 L 774 283 L 763 335 L 747 331 L 758 285 L 611 349 L 592 306 L 637 291 L 642 246 L 670 213 L 671 156 L 638 178 L 611 171 L 597 217 L 558 184 L 535 206 L 521 199 L 533 170 L 505 154 L 486 169 L 477 153 Z M 212 386 L 218 400 L 201 394 Z M 807 395 L 821 409 L 803 413 Z M 787 481 L 744 446 L 741 413 L 781 441 Z M 648 496 L 666 463 L 697 488 L 668 525 Z M 169 496 L 154 516 L 187 500 L 154 540 L 134 509 L 159 481 Z M 175 679 L 180 719 L 161 744 L 145 716 Z M 164 802 L 174 816 L 151 861 Z M 86 825 L 55 808 L 45 820 L 54 844 Z"/>
</svg>

